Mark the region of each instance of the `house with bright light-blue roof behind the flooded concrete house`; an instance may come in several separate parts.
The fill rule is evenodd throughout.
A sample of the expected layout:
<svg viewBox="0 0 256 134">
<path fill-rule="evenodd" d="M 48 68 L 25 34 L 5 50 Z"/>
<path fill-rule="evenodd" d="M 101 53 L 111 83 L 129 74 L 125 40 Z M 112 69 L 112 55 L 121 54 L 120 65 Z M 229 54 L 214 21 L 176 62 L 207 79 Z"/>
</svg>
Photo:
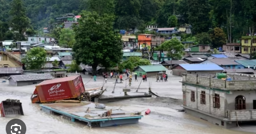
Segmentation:
<svg viewBox="0 0 256 134">
<path fill-rule="evenodd" d="M 222 73 L 223 68 L 217 64 L 179 64 L 173 68 L 174 76 L 182 74 L 213 74 Z"/>
</svg>

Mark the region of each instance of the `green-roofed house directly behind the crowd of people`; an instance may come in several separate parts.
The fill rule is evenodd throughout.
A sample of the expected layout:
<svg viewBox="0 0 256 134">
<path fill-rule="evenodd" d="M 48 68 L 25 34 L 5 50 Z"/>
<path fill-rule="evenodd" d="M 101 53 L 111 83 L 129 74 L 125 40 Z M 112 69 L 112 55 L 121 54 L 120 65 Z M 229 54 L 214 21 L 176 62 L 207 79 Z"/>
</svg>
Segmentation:
<svg viewBox="0 0 256 134">
<path fill-rule="evenodd" d="M 145 65 L 138 66 L 134 69 L 134 72 L 138 74 L 138 76 L 142 76 L 143 74 L 147 74 L 147 77 L 157 76 L 159 72 L 166 73 L 168 69 L 163 65 Z"/>
</svg>

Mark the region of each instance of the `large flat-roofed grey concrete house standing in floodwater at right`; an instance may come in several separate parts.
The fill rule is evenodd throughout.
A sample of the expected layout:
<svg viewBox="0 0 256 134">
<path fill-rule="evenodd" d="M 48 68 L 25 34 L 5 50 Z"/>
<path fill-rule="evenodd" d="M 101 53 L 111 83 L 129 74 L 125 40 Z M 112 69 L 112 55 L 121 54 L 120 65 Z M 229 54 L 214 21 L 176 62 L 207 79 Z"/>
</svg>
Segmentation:
<svg viewBox="0 0 256 134">
<path fill-rule="evenodd" d="M 256 78 L 228 75 L 231 81 L 183 74 L 183 107 L 186 113 L 223 128 L 256 122 Z"/>
</svg>

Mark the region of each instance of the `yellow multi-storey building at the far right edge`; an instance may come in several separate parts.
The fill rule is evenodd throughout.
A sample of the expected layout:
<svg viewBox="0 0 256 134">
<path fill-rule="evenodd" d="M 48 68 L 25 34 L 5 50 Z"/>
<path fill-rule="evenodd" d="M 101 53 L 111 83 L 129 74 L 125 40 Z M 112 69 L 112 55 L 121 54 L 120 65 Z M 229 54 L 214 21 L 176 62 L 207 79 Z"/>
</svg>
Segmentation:
<svg viewBox="0 0 256 134">
<path fill-rule="evenodd" d="M 253 37 L 252 52 L 256 51 L 256 36 Z M 241 40 L 241 53 L 250 53 L 251 51 L 251 36 L 242 36 Z"/>
</svg>

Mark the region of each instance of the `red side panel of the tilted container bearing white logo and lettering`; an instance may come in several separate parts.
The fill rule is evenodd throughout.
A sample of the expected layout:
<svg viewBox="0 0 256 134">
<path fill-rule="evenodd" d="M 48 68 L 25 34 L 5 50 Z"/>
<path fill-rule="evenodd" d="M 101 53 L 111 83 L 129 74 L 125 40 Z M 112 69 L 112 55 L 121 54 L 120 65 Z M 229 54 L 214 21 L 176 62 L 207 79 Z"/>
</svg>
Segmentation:
<svg viewBox="0 0 256 134">
<path fill-rule="evenodd" d="M 45 97 L 45 100 L 41 100 L 42 102 L 73 98 L 68 81 L 41 85 L 41 90 Z"/>
</svg>

